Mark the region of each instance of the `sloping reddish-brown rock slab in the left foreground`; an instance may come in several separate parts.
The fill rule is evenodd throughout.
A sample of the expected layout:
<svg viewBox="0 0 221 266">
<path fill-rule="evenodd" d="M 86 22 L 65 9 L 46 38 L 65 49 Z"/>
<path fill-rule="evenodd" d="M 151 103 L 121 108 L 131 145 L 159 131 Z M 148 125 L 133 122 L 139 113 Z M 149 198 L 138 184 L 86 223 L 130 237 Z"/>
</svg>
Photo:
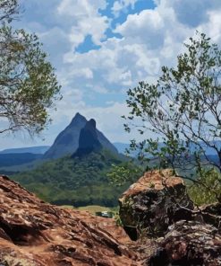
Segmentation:
<svg viewBox="0 0 221 266">
<path fill-rule="evenodd" d="M 1 265 L 140 265 L 123 242 L 114 220 L 47 204 L 0 176 Z"/>
</svg>

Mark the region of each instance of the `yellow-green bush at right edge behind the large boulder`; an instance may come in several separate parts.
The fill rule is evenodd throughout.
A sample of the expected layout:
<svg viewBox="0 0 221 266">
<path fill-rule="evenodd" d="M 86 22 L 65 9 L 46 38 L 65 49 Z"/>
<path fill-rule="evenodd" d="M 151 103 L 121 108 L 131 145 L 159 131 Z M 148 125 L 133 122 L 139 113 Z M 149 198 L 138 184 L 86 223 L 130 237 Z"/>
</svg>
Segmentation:
<svg viewBox="0 0 221 266">
<path fill-rule="evenodd" d="M 215 169 L 202 170 L 198 182 L 189 183 L 188 195 L 198 206 L 210 204 L 221 198 L 221 175 Z"/>
</svg>

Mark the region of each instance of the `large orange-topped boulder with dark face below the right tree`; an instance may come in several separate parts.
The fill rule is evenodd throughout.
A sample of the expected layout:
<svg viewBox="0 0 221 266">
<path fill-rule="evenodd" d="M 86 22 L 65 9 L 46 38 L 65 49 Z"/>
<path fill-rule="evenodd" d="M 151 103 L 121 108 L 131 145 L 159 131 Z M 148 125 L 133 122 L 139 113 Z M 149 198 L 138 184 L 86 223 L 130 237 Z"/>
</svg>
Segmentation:
<svg viewBox="0 0 221 266">
<path fill-rule="evenodd" d="M 120 217 L 132 240 L 140 235 L 165 235 L 168 226 L 191 219 L 193 204 L 183 179 L 171 170 L 145 173 L 119 199 Z"/>
</svg>

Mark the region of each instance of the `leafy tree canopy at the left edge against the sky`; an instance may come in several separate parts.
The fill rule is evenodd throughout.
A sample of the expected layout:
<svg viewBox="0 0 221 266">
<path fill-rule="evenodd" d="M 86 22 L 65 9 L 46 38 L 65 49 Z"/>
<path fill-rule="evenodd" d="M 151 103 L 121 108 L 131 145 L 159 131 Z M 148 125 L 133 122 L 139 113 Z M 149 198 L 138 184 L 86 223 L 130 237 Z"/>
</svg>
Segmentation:
<svg viewBox="0 0 221 266">
<path fill-rule="evenodd" d="M 13 30 L 17 0 L 0 0 L 0 133 L 39 133 L 50 121 L 48 108 L 60 99 L 55 69 L 35 34 Z"/>
</svg>

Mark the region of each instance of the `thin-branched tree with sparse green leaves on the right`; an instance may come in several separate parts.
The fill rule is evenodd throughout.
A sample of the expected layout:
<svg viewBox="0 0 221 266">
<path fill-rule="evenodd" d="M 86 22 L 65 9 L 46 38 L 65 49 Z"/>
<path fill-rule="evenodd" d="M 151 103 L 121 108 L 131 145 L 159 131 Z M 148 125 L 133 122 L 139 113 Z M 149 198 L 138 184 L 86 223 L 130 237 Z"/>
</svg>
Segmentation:
<svg viewBox="0 0 221 266">
<path fill-rule="evenodd" d="M 203 179 L 205 171 L 221 173 L 221 50 L 199 32 L 184 46 L 177 67 L 162 67 L 156 84 L 140 82 L 128 91 L 124 126 L 145 138 L 131 144 L 140 148 L 140 159 L 155 157 L 157 167 L 171 167 L 211 191 Z M 214 192 L 220 200 L 221 191 Z"/>
</svg>

